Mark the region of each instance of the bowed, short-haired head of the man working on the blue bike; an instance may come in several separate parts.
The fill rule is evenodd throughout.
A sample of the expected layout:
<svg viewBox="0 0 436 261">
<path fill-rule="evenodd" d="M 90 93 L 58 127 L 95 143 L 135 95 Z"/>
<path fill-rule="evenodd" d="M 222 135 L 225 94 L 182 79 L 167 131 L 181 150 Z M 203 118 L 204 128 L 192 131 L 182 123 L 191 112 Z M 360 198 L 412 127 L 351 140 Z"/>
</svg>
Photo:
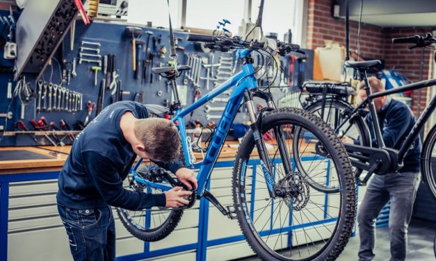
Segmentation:
<svg viewBox="0 0 436 261">
<path fill-rule="evenodd" d="M 180 135 L 172 121 L 161 118 L 138 119 L 134 130 L 150 159 L 172 162 L 179 157 Z"/>
</svg>

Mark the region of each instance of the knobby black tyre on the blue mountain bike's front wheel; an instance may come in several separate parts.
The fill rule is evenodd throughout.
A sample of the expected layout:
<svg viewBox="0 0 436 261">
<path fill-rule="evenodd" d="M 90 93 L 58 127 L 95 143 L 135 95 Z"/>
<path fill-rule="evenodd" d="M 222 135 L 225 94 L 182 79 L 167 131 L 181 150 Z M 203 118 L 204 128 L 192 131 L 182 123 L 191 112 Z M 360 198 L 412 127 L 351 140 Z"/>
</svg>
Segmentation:
<svg viewBox="0 0 436 261">
<path fill-rule="evenodd" d="M 325 124 L 325 122 L 319 117 L 316 117 L 306 110 L 281 108 L 264 115 L 262 122 L 262 133 L 268 131 L 271 126 L 274 126 L 275 124 L 299 124 L 307 130 L 313 131 L 313 133 L 324 142 L 328 151 L 334 152 L 330 158 L 337 167 L 337 174 L 341 185 L 338 221 L 335 224 L 330 239 L 328 239 L 328 242 L 325 243 L 325 246 L 323 246 L 321 251 L 318 251 L 316 255 L 297 260 L 335 260 L 348 243 L 348 239 L 354 228 L 357 208 L 355 178 L 344 145 L 341 143 L 339 138 L 337 138 L 328 124 Z M 248 212 L 248 206 L 245 203 L 245 199 L 248 196 L 245 196 L 244 194 L 245 185 L 248 185 L 248 181 L 245 183 L 245 176 L 247 175 L 245 175 L 244 171 L 248 160 L 250 159 L 250 153 L 252 153 L 254 148 L 255 140 L 252 130 L 249 130 L 245 135 L 241 146 L 239 146 L 238 153 L 236 154 L 232 178 L 232 194 L 239 226 L 251 249 L 257 253 L 261 260 L 293 260 L 275 253 L 274 250 L 271 250 L 268 245 L 262 241 L 262 236 L 255 231 L 255 222 L 252 222 Z M 295 175 L 295 172 L 293 175 Z M 253 174 L 253 176 L 255 176 L 255 174 Z M 247 187 L 247 191 L 249 190 L 250 187 Z M 252 210 L 252 212 L 253 211 L 255 210 Z M 291 217 L 289 217 L 289 219 L 290 218 Z M 291 245 L 291 247 L 293 246 Z M 273 249 L 274 248 L 275 247 L 273 247 Z"/>
</svg>

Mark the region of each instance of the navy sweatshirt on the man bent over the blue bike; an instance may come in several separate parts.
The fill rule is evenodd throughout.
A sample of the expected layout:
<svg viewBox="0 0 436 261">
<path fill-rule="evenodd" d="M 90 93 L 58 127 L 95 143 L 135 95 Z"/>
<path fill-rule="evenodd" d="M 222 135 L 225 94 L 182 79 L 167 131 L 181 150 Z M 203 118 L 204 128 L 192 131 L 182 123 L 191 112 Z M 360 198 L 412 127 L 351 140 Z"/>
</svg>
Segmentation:
<svg viewBox="0 0 436 261">
<path fill-rule="evenodd" d="M 120 128 L 125 112 L 133 113 L 137 119 L 148 117 L 142 104 L 120 101 L 104 108 L 76 137 L 58 178 L 58 203 L 75 209 L 112 205 L 140 210 L 165 206 L 165 194 L 145 194 L 122 187 L 122 180 L 136 159 Z M 183 167 L 178 160 L 172 164 L 156 163 L 173 173 Z"/>
</svg>

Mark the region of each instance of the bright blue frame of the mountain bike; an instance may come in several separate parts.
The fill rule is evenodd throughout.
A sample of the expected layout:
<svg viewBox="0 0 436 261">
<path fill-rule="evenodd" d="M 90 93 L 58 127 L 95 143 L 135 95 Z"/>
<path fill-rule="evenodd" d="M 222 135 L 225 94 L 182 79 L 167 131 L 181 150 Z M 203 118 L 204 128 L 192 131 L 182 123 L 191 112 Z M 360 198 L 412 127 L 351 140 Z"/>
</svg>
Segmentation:
<svg viewBox="0 0 436 261">
<path fill-rule="evenodd" d="M 239 51 L 240 51 L 240 56 L 239 56 L 240 58 L 245 58 L 249 56 L 250 53 L 252 52 L 252 50 L 250 49 L 247 50 L 243 49 Z M 204 155 L 204 160 L 200 165 L 200 171 L 198 171 L 197 174 L 198 196 L 202 196 L 206 190 L 207 182 L 211 176 L 213 166 L 215 165 L 215 162 L 218 159 L 218 155 L 225 142 L 225 138 L 227 137 L 229 128 L 232 125 L 234 117 L 236 116 L 236 113 L 239 110 L 239 107 L 244 97 L 244 93 L 247 90 L 257 88 L 257 81 L 254 76 L 254 69 L 252 67 L 252 64 L 250 63 L 244 64 L 242 67 L 242 71 L 240 71 L 238 74 L 232 76 L 232 78 L 229 78 L 227 81 L 220 84 L 218 87 L 216 87 L 208 94 L 202 96 L 201 99 L 198 99 L 197 101 L 195 101 L 195 103 L 191 104 L 187 108 L 177 110 L 175 117 L 172 119 L 173 122 L 175 123 L 177 122 L 177 127 L 179 128 L 179 133 L 181 136 L 181 145 L 184 151 L 184 160 L 186 162 L 186 167 L 193 167 L 193 162 L 191 160 L 191 153 L 189 151 L 191 144 L 189 144 L 188 136 L 186 135 L 184 117 L 190 114 L 191 112 L 193 112 L 193 110 L 196 110 L 197 108 L 200 108 L 200 106 L 203 106 L 204 103 L 211 101 L 211 99 L 222 94 L 223 92 L 229 90 L 232 87 L 234 87 L 234 89 L 232 90 L 232 93 L 229 96 L 229 101 L 225 106 L 223 115 L 211 139 L 209 148 L 207 149 L 207 152 Z M 141 161 L 142 159 L 140 159 L 137 162 L 137 164 L 132 168 L 131 171 L 134 174 L 134 178 L 138 182 L 143 183 L 145 185 L 150 185 L 151 187 L 159 188 L 160 190 L 163 191 L 168 191 L 172 188 L 170 185 L 152 183 L 148 180 L 144 180 L 143 178 L 140 178 L 136 173 L 135 169 L 137 169 Z"/>
</svg>

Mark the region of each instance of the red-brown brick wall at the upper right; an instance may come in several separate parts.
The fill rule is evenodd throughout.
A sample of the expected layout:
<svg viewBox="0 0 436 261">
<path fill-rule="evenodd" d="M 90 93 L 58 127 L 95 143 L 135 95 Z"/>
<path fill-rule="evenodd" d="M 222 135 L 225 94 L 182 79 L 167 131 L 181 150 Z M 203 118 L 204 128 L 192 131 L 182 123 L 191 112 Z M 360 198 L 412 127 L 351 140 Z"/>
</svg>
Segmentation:
<svg viewBox="0 0 436 261">
<path fill-rule="evenodd" d="M 307 0 L 309 1 L 307 19 L 307 48 L 315 49 L 324 45 L 325 40 L 333 40 L 340 44 L 346 44 L 345 21 L 332 17 L 332 0 Z M 350 21 L 350 50 L 357 49 L 357 22 Z M 399 69 L 412 81 L 420 79 L 421 49 L 407 51 L 407 44 L 391 44 L 393 37 L 405 37 L 407 35 L 422 35 L 431 32 L 431 28 L 382 28 L 362 24 L 360 28 L 360 56 L 385 60 L 387 69 Z M 431 51 L 424 51 L 423 80 L 430 75 Z M 419 116 L 426 106 L 425 89 L 421 90 L 421 106 L 418 109 L 419 91 L 412 92 L 413 108 L 415 115 Z"/>
</svg>

